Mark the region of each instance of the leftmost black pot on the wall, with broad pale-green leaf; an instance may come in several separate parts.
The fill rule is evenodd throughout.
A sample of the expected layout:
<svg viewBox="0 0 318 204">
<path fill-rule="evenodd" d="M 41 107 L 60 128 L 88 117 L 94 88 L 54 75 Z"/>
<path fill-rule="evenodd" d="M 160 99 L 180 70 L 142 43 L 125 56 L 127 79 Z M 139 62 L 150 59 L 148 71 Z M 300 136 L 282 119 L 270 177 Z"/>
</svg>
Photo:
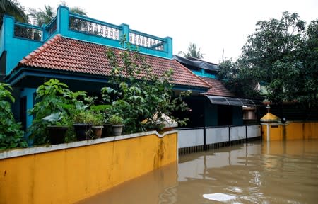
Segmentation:
<svg viewBox="0 0 318 204">
<path fill-rule="evenodd" d="M 52 113 L 43 118 L 47 125 L 49 142 L 52 145 L 63 143 L 65 140 L 66 131 L 69 129 L 69 120 L 66 119 L 63 113 Z"/>
</svg>

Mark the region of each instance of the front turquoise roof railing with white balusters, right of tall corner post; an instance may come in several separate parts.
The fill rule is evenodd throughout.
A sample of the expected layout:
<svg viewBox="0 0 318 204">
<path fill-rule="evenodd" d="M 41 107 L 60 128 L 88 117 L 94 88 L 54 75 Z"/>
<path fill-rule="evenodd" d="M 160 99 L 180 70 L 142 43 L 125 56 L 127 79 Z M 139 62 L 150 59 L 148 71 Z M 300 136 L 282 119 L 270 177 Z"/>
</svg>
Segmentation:
<svg viewBox="0 0 318 204">
<path fill-rule="evenodd" d="M 117 26 L 87 16 L 70 13 L 66 6 L 59 6 L 57 18 L 58 33 L 62 36 L 118 48 L 122 48 L 119 40 L 122 36 L 126 36 L 127 42 L 139 47 L 139 52 L 172 59 L 172 38 L 170 37 L 159 38 L 137 30 L 131 30 L 129 25 L 124 23 Z"/>
</svg>

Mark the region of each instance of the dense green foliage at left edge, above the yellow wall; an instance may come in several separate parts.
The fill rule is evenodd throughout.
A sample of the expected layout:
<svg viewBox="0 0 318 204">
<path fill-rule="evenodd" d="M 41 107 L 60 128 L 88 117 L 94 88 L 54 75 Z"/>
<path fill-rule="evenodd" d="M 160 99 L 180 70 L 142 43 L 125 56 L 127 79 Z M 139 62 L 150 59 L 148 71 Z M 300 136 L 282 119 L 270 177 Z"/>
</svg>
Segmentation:
<svg viewBox="0 0 318 204">
<path fill-rule="evenodd" d="M 11 86 L 0 83 L 0 149 L 28 147 L 21 125 L 16 123 L 11 111 L 9 101 L 14 102 L 11 91 Z"/>
</svg>

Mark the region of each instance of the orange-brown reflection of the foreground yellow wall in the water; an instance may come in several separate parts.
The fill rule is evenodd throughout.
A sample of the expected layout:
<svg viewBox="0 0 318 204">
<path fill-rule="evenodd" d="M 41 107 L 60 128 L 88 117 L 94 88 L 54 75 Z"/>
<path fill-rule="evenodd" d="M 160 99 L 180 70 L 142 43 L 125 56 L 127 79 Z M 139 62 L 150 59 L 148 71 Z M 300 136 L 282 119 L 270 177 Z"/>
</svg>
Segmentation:
<svg viewBox="0 0 318 204">
<path fill-rule="evenodd" d="M 177 163 L 172 163 L 79 203 L 175 203 L 173 196 L 175 186 L 177 186 Z"/>
</svg>

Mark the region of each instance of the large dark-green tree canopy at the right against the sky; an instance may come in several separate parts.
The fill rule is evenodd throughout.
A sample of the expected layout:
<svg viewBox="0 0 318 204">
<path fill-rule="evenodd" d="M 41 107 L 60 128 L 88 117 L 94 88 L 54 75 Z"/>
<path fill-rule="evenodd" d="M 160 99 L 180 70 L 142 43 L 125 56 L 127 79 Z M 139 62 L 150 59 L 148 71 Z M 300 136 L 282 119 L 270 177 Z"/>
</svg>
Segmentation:
<svg viewBox="0 0 318 204">
<path fill-rule="evenodd" d="M 256 26 L 242 47 L 242 56 L 236 62 L 220 64 L 220 79 L 226 86 L 232 86 L 233 81 L 248 83 L 235 88 L 243 96 L 253 97 L 254 87 L 260 83 L 273 103 L 297 101 L 317 106 L 318 19 L 306 29 L 297 13 L 285 11 L 281 19 L 259 21 Z M 223 74 L 224 67 L 228 74 Z"/>
</svg>

